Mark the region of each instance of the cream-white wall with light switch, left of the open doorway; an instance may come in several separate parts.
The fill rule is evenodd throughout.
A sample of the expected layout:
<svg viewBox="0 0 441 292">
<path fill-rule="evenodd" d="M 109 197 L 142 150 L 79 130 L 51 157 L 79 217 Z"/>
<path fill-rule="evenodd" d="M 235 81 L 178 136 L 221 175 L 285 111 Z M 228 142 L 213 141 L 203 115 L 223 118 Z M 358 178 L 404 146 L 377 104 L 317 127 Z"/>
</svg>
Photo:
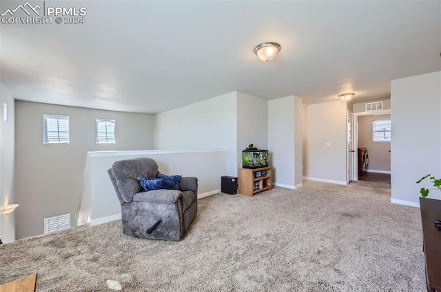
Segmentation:
<svg viewBox="0 0 441 292">
<path fill-rule="evenodd" d="M 306 154 L 303 172 L 308 179 L 346 184 L 347 104 L 341 100 L 306 106 Z M 330 146 L 326 146 L 329 142 Z"/>
</svg>

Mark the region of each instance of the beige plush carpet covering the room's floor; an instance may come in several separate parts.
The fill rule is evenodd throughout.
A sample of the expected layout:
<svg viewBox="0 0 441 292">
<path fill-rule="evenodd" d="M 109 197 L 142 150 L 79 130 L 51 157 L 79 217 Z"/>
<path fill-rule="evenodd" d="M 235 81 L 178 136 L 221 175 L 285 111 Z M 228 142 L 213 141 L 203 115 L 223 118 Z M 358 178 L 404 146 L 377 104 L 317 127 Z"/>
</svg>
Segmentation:
<svg viewBox="0 0 441 292">
<path fill-rule="evenodd" d="M 418 194 L 415 194 L 418 196 Z M 305 182 L 199 201 L 180 242 L 121 234 L 121 221 L 0 246 L 0 284 L 37 291 L 424 291 L 420 211 L 390 186 Z M 117 285 L 117 284 L 116 284 Z"/>
</svg>

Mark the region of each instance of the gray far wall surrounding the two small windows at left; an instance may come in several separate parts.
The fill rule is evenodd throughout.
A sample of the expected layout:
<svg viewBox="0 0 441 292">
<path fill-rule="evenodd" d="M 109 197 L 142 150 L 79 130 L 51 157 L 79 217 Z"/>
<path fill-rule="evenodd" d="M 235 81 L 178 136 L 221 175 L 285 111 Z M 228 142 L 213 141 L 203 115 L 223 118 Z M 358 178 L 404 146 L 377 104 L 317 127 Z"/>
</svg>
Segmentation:
<svg viewBox="0 0 441 292">
<path fill-rule="evenodd" d="M 70 212 L 76 224 L 88 151 L 147 150 L 153 145 L 152 115 L 20 100 L 15 113 L 17 238 L 42 234 L 45 216 Z M 43 144 L 43 114 L 70 116 L 70 144 Z M 116 120 L 116 144 L 96 144 L 96 118 Z"/>
</svg>

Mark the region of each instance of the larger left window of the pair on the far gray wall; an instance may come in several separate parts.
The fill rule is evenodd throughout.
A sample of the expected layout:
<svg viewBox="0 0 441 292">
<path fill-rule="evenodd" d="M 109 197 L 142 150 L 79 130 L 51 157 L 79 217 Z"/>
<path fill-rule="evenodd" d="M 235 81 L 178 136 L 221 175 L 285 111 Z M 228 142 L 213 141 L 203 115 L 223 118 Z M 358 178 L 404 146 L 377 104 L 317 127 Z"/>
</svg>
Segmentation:
<svg viewBox="0 0 441 292">
<path fill-rule="evenodd" d="M 44 144 L 69 143 L 69 117 L 43 115 Z"/>
</svg>

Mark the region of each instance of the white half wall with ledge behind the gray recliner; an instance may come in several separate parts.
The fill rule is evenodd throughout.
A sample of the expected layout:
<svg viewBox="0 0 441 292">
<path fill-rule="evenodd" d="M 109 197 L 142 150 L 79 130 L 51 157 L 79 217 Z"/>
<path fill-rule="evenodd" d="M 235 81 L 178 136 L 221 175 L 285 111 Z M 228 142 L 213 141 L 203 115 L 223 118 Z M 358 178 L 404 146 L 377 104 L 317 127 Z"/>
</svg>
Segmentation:
<svg viewBox="0 0 441 292">
<path fill-rule="evenodd" d="M 121 218 L 121 205 L 107 170 L 115 161 L 150 157 L 167 175 L 198 178 L 198 198 L 216 194 L 227 171 L 227 150 L 147 150 L 88 153 L 88 175 L 79 208 L 79 224 L 96 225 Z"/>
</svg>

